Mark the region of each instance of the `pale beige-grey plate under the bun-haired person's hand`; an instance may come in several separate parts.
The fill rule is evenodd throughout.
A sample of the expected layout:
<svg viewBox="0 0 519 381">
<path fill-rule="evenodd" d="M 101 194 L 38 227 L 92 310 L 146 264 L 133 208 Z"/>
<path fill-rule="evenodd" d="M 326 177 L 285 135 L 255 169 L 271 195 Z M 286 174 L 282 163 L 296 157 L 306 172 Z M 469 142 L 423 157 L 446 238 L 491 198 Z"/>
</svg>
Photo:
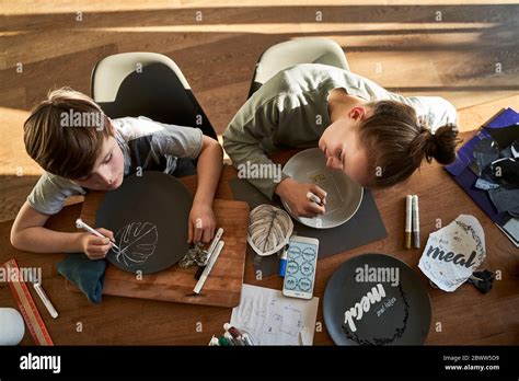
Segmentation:
<svg viewBox="0 0 519 381">
<path fill-rule="evenodd" d="M 292 218 L 315 229 L 338 227 L 355 216 L 362 203 L 364 188 L 341 170 L 326 166 L 326 158 L 319 148 L 296 153 L 285 164 L 282 172 L 300 183 L 316 184 L 326 193 L 326 212 L 307 218 L 296 217 L 281 199 L 282 206 Z"/>
</svg>

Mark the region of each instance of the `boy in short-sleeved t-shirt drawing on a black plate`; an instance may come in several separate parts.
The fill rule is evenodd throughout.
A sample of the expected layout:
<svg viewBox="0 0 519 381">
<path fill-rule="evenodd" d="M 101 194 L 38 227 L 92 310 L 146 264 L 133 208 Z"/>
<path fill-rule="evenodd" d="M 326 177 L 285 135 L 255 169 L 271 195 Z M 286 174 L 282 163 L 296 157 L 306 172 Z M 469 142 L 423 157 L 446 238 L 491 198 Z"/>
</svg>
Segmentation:
<svg viewBox="0 0 519 381">
<path fill-rule="evenodd" d="M 188 241 L 209 242 L 217 227 L 212 200 L 222 169 L 218 141 L 198 128 L 178 127 L 146 117 L 111 120 L 89 96 L 61 88 L 48 94 L 24 124 L 27 153 L 43 169 L 11 229 L 11 243 L 37 253 L 84 252 L 89 258 L 106 256 L 113 232 L 97 229 L 65 233 L 44 228 L 67 197 L 86 189 L 113 190 L 124 176 L 139 170 L 173 174 L 178 158 L 198 158 L 198 187 L 189 213 Z"/>
</svg>

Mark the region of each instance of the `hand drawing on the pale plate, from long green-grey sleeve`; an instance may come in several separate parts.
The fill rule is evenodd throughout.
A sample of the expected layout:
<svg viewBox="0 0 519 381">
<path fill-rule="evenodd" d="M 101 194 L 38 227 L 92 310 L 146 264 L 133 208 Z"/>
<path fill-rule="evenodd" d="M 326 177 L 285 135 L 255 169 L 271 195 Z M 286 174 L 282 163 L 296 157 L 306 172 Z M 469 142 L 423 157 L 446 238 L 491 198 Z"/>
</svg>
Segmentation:
<svg viewBox="0 0 519 381">
<path fill-rule="evenodd" d="M 276 194 L 281 197 L 293 215 L 298 217 L 316 217 L 325 212 L 324 205 L 320 206 L 308 199 L 307 194 L 311 192 L 325 205 L 326 192 L 315 184 L 299 183 L 293 178 L 285 178 L 276 187 Z"/>
</svg>

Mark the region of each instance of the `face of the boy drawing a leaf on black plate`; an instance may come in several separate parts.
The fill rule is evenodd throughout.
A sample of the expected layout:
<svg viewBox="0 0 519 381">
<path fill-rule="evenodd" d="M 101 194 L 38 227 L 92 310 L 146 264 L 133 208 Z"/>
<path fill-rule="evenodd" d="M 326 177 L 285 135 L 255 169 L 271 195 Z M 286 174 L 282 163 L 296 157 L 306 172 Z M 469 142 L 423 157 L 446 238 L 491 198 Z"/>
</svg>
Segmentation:
<svg viewBox="0 0 519 381">
<path fill-rule="evenodd" d="M 89 175 L 74 180 L 78 185 L 95 190 L 114 190 L 123 184 L 125 170 L 123 150 L 114 138 L 115 129 L 112 124 L 111 128 L 112 136 L 104 139 L 94 169 Z"/>
</svg>

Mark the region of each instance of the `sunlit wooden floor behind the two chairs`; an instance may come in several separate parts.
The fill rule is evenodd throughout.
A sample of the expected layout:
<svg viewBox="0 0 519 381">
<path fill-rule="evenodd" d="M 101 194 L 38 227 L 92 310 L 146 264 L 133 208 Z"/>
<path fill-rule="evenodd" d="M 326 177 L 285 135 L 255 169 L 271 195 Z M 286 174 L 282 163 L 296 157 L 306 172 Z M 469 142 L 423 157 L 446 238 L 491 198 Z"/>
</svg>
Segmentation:
<svg viewBox="0 0 519 381">
<path fill-rule="evenodd" d="M 518 92 L 517 3 L 416 3 L 2 1 L 0 221 L 15 217 L 41 174 L 22 142 L 31 106 L 55 86 L 90 93 L 94 64 L 116 53 L 175 60 L 219 135 L 244 103 L 262 51 L 304 36 L 335 39 L 353 71 L 404 95 L 440 95 L 462 108 Z"/>
</svg>

